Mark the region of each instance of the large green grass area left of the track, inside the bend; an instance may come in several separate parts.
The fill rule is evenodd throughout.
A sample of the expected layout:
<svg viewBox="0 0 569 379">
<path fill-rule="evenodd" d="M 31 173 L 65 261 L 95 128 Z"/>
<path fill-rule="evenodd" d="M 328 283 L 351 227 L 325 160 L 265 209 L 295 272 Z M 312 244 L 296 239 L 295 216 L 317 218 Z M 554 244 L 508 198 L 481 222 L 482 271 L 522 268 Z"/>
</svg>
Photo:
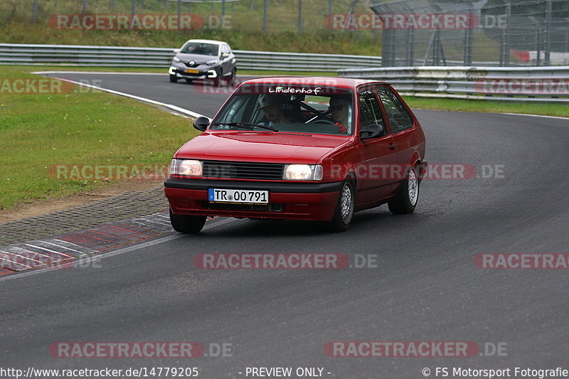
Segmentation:
<svg viewBox="0 0 569 379">
<path fill-rule="evenodd" d="M 2 80 L 39 78 L 30 70 L 4 66 Z M 168 165 L 196 134 L 189 119 L 105 92 L 0 93 L 0 208 L 108 185 L 51 178 L 53 165 Z"/>
</svg>

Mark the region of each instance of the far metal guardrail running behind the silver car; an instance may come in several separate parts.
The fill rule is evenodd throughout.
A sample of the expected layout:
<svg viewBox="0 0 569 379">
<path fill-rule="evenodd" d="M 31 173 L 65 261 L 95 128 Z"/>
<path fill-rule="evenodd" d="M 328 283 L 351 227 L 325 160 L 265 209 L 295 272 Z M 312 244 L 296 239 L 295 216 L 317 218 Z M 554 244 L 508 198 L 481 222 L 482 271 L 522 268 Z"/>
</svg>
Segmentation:
<svg viewBox="0 0 569 379">
<path fill-rule="evenodd" d="M 105 67 L 164 67 L 174 48 L 113 46 L 24 45 L 0 43 L 0 65 L 73 65 Z M 336 71 L 338 68 L 373 68 L 381 57 L 366 55 L 272 53 L 233 50 L 238 68 L 255 70 Z"/>
</svg>

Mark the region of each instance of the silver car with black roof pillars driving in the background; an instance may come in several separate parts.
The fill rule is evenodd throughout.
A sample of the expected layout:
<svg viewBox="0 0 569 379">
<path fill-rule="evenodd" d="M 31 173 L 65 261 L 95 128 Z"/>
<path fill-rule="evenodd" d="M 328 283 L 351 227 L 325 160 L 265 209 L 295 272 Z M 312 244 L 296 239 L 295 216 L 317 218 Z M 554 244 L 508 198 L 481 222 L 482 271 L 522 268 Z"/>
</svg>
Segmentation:
<svg viewBox="0 0 569 379">
<path fill-rule="evenodd" d="M 223 41 L 189 40 L 174 53 L 176 55 L 168 70 L 171 82 L 209 79 L 218 86 L 221 80 L 230 82 L 237 74 L 235 55 Z"/>
</svg>

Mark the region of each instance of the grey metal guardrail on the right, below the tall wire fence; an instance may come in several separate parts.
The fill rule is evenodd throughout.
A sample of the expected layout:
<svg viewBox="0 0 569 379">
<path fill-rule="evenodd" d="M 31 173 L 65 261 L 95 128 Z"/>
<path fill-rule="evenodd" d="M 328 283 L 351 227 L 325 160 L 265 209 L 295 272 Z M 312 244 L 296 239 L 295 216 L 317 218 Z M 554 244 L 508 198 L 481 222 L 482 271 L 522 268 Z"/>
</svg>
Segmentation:
<svg viewBox="0 0 569 379">
<path fill-rule="evenodd" d="M 360 68 L 338 70 L 338 75 L 383 80 L 418 97 L 569 104 L 569 66 Z"/>
</svg>

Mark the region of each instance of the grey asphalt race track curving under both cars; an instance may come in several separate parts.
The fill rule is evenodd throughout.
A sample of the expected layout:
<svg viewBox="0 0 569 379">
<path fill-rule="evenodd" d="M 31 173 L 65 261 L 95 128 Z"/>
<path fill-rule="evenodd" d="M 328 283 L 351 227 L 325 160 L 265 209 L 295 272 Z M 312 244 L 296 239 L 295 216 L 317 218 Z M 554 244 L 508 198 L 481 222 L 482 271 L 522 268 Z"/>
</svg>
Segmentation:
<svg viewBox="0 0 569 379">
<path fill-rule="evenodd" d="M 54 76 L 102 80 L 209 117 L 228 96 L 199 94 L 166 75 Z M 390 215 L 382 205 L 356 213 L 346 233 L 216 219 L 201 235 L 172 233 L 103 254 L 100 267 L 0 278 L 1 361 L 23 369 L 197 367 L 198 378 L 212 379 L 247 378 L 247 367 L 318 367 L 324 377 L 362 379 L 424 378 L 423 368 L 435 377 L 437 367 L 569 369 L 568 271 L 473 262 L 479 253 L 569 252 L 569 120 L 416 114 L 429 164 L 471 164 L 479 177 L 425 179 L 413 215 Z M 208 252 L 336 252 L 351 262 L 376 256 L 377 267 L 197 269 L 194 257 Z M 196 341 L 206 353 L 210 343 L 232 351 L 55 359 L 48 348 L 60 341 Z M 329 341 L 474 341 L 482 356 L 330 357 Z M 491 354 L 499 343 L 506 350 Z"/>
</svg>

